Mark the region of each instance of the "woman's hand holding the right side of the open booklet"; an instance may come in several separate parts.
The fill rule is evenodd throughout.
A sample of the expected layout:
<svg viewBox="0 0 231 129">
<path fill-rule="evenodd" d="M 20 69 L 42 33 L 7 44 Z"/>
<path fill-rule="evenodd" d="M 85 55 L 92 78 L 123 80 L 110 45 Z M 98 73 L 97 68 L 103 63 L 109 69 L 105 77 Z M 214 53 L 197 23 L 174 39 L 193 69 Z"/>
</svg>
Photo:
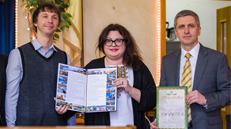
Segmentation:
<svg viewBox="0 0 231 129">
<path fill-rule="evenodd" d="M 117 88 L 122 88 L 124 91 L 128 94 L 130 94 L 130 91 L 132 87 L 129 85 L 127 78 L 118 78 L 114 81 L 114 85 Z"/>
</svg>

